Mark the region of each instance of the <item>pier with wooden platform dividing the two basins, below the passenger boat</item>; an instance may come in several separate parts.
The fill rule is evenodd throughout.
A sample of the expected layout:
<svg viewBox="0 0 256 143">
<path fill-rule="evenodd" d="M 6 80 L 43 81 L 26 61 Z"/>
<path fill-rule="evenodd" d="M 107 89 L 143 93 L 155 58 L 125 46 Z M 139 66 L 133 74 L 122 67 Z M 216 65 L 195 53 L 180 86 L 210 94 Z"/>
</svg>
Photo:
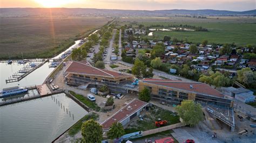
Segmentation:
<svg viewBox="0 0 256 143">
<path fill-rule="evenodd" d="M 9 99 L 7 101 L 0 102 L 0 106 L 14 104 L 14 103 L 23 102 L 23 101 L 29 101 L 29 100 L 32 100 L 32 99 L 42 98 L 42 97 L 50 96 L 50 95 L 53 95 L 53 94 L 63 93 L 63 90 L 51 91 L 47 84 L 35 85 L 35 86 L 25 87 L 25 88 L 28 88 L 29 90 L 37 89 L 38 94 L 37 95 L 30 95 L 30 96 L 28 95 L 28 97 L 19 97 L 19 98 Z"/>
</svg>

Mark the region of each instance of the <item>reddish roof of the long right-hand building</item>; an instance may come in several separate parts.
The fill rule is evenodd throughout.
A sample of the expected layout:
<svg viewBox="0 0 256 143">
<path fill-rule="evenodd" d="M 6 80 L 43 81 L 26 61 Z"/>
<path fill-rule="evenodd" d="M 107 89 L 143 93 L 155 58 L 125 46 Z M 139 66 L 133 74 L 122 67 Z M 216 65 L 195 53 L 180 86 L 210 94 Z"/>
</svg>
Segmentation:
<svg viewBox="0 0 256 143">
<path fill-rule="evenodd" d="M 214 88 L 210 87 L 210 85 L 201 83 L 201 82 L 184 82 L 184 81 L 173 81 L 173 80 L 158 80 L 153 78 L 145 78 L 142 82 L 163 85 L 170 88 L 176 88 L 180 90 L 186 90 L 190 92 L 196 92 L 198 94 L 210 95 L 210 96 L 217 96 L 217 97 L 224 97 L 221 92 L 215 90 Z M 190 85 L 193 88 L 190 88 Z"/>
</svg>

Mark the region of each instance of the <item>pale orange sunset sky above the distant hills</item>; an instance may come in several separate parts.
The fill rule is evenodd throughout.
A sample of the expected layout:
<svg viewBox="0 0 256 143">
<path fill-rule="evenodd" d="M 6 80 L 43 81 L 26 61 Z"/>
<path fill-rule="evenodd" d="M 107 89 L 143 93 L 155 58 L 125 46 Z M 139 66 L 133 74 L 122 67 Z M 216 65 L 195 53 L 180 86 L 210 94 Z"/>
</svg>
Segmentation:
<svg viewBox="0 0 256 143">
<path fill-rule="evenodd" d="M 130 10 L 256 9 L 255 0 L 0 0 L 1 8 L 97 8 Z"/>
</svg>

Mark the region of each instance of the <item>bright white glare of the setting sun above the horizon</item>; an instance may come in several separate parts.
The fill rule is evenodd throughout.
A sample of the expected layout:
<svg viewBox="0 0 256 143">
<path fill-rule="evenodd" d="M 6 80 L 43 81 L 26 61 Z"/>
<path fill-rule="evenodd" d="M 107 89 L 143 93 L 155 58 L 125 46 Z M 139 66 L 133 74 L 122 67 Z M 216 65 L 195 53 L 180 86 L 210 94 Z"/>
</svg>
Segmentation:
<svg viewBox="0 0 256 143">
<path fill-rule="evenodd" d="M 34 0 L 34 1 L 41 4 L 45 8 L 56 8 L 72 2 L 72 0 Z"/>
</svg>

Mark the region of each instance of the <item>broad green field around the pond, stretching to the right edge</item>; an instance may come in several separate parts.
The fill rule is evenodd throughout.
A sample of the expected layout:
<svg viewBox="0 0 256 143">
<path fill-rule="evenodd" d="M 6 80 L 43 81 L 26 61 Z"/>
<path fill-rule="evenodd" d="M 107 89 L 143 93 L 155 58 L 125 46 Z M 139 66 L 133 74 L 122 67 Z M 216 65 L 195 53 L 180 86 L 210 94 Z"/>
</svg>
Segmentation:
<svg viewBox="0 0 256 143">
<path fill-rule="evenodd" d="M 148 18 L 122 18 L 126 25 L 129 20 L 133 27 L 140 24 L 150 25 L 192 25 L 207 28 L 204 31 L 154 31 L 153 36 L 145 36 L 151 40 L 163 39 L 165 35 L 178 40 L 187 39 L 188 42 L 198 43 L 208 40 L 209 43 L 225 44 L 235 42 L 238 46 L 247 44 L 256 45 L 256 18 L 248 17 L 210 17 L 207 19 L 186 18 L 186 17 L 148 17 Z"/>
</svg>

